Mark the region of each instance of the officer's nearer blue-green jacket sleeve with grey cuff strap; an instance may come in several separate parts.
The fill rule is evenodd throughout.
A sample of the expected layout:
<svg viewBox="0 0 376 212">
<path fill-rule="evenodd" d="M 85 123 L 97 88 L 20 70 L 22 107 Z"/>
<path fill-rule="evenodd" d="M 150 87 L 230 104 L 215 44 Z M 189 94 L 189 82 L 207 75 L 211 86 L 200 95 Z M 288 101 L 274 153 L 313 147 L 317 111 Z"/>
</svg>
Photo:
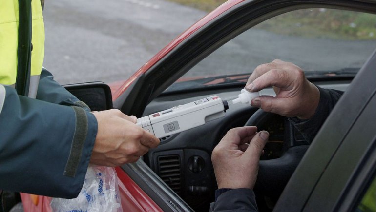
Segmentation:
<svg viewBox="0 0 376 212">
<path fill-rule="evenodd" d="M 81 107 L 19 96 L 0 85 L 0 188 L 76 197 L 97 126 L 94 115 Z"/>
</svg>

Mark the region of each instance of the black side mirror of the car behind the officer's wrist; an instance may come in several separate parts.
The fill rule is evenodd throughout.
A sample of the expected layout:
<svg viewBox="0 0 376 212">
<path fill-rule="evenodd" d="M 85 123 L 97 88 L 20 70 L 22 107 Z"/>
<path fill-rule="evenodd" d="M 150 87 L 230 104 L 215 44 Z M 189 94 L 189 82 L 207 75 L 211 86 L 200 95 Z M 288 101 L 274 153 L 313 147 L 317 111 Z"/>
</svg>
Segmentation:
<svg viewBox="0 0 376 212">
<path fill-rule="evenodd" d="M 103 82 L 88 82 L 63 86 L 80 101 L 85 102 L 92 111 L 112 109 L 110 87 Z"/>
</svg>

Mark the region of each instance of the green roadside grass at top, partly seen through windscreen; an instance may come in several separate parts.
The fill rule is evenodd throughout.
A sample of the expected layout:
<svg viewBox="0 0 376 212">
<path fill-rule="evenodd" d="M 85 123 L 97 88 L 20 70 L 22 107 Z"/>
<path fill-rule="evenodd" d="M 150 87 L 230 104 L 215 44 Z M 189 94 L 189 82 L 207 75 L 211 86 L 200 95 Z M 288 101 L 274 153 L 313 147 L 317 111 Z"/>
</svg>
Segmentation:
<svg viewBox="0 0 376 212">
<path fill-rule="evenodd" d="M 226 0 L 169 0 L 212 11 Z M 334 9 L 304 9 L 269 19 L 256 28 L 309 38 L 376 40 L 376 16 Z"/>
</svg>

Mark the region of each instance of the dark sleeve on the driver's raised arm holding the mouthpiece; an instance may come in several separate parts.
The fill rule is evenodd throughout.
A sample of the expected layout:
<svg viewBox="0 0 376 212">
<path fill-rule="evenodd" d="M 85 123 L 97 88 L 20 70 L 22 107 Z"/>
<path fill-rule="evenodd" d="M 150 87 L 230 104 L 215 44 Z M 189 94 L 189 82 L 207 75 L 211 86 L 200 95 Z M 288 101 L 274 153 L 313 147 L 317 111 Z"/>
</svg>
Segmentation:
<svg viewBox="0 0 376 212">
<path fill-rule="evenodd" d="M 324 89 L 318 86 L 317 88 L 320 91 L 320 101 L 314 115 L 306 120 L 297 117 L 289 117 L 289 120 L 295 128 L 309 143 L 313 141 L 314 136 L 320 130 L 322 124 L 333 110 L 334 105 L 343 94 L 343 91 Z"/>
</svg>

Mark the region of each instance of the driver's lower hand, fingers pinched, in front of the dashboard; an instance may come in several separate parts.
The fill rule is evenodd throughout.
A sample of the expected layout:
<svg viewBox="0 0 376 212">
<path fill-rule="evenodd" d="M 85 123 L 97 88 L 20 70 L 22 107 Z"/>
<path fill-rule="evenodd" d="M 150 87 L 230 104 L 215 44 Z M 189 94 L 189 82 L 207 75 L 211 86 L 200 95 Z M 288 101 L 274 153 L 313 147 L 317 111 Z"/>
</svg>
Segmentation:
<svg viewBox="0 0 376 212">
<path fill-rule="evenodd" d="M 257 127 L 233 128 L 222 138 L 211 154 L 218 189 L 253 189 L 258 162 L 269 133 L 256 133 Z"/>
</svg>

